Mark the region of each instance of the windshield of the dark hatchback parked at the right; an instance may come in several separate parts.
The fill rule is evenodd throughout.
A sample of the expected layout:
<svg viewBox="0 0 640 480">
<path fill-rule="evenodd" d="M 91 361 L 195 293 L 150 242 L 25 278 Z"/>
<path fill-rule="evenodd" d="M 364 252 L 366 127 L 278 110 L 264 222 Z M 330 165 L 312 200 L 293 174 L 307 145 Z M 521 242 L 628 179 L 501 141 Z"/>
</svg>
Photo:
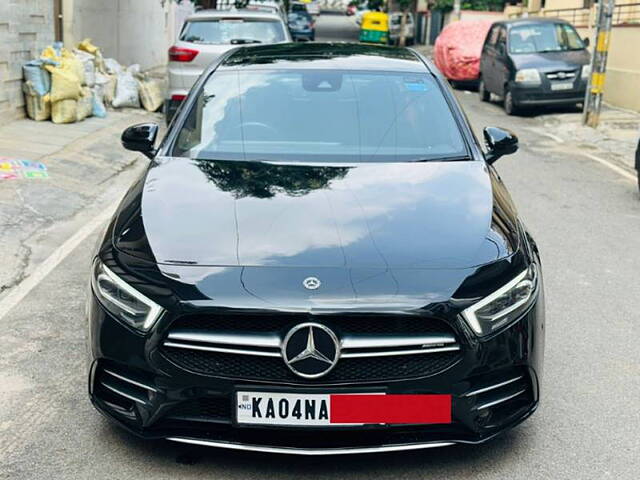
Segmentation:
<svg viewBox="0 0 640 480">
<path fill-rule="evenodd" d="M 582 39 L 566 23 L 539 23 L 513 27 L 509 32 L 510 53 L 562 52 L 582 50 Z"/>
</svg>

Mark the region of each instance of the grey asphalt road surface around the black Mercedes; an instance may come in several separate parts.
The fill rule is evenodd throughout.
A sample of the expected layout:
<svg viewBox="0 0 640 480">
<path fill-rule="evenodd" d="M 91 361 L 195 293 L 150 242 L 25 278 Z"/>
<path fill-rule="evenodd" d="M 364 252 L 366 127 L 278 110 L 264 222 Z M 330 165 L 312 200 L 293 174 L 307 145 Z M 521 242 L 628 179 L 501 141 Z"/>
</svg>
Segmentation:
<svg viewBox="0 0 640 480">
<path fill-rule="evenodd" d="M 507 118 L 459 93 L 478 130 L 502 125 L 521 138 L 497 168 L 543 256 L 546 369 L 532 418 L 484 446 L 336 459 L 142 442 L 86 396 L 92 235 L 0 319 L 0 478 L 639 478 L 636 186 L 541 135 L 535 118 Z"/>
</svg>

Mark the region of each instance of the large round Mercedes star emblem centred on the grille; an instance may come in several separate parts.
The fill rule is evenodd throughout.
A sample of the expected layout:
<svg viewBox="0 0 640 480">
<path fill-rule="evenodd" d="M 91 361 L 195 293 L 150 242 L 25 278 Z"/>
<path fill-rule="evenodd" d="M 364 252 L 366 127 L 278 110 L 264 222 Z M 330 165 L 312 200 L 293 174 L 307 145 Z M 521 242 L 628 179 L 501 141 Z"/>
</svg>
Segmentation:
<svg viewBox="0 0 640 480">
<path fill-rule="evenodd" d="M 336 366 L 339 357 L 338 337 L 319 323 L 296 325 L 282 342 L 284 363 L 299 377 L 322 377 Z"/>
</svg>

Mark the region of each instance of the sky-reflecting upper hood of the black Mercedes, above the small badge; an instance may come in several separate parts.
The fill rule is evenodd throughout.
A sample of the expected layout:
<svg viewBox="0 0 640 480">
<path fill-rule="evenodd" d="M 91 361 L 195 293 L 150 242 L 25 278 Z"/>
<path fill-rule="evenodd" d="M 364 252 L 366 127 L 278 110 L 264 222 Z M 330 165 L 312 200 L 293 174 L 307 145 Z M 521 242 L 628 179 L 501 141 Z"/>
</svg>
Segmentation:
<svg viewBox="0 0 640 480">
<path fill-rule="evenodd" d="M 123 201 L 112 241 L 160 265 L 463 269 L 517 248 L 515 215 L 482 162 L 161 158 Z"/>
</svg>

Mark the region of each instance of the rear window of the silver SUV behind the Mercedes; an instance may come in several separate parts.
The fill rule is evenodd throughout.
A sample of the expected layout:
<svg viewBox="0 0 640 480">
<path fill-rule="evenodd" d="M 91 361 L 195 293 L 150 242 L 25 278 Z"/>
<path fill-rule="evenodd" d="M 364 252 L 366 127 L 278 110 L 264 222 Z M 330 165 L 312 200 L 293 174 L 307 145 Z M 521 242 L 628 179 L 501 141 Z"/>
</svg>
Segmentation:
<svg viewBox="0 0 640 480">
<path fill-rule="evenodd" d="M 189 22 L 180 40 L 192 43 L 228 44 L 232 40 L 276 43 L 286 40 L 281 22 L 249 18 L 221 18 Z"/>
</svg>

